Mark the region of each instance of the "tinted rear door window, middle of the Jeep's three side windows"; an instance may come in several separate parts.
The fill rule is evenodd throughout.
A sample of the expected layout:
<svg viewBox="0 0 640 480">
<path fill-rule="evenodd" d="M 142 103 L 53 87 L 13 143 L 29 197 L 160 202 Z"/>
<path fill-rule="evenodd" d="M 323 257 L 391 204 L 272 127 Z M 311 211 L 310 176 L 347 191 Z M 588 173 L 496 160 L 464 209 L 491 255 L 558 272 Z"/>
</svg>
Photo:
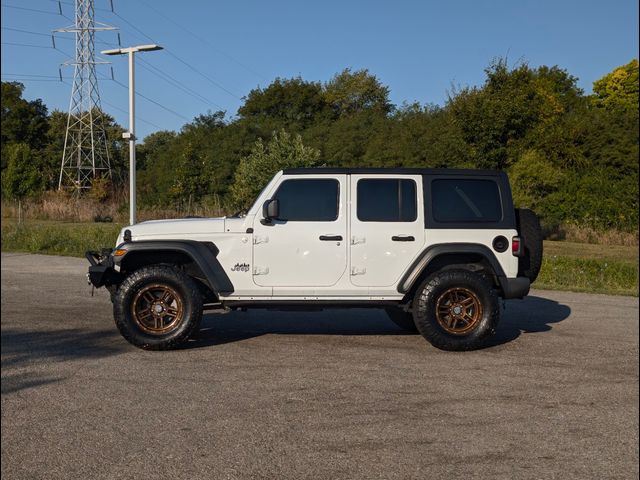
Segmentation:
<svg viewBox="0 0 640 480">
<path fill-rule="evenodd" d="M 416 182 L 372 178 L 358 181 L 358 220 L 361 222 L 413 222 L 416 220 Z"/>
</svg>

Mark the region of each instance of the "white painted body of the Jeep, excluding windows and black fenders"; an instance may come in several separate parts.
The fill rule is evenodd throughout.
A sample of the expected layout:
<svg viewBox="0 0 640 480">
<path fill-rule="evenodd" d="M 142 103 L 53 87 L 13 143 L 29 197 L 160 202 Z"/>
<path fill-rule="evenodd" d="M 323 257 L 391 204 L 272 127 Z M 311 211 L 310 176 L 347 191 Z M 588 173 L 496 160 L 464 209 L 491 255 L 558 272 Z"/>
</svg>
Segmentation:
<svg viewBox="0 0 640 480">
<path fill-rule="evenodd" d="M 466 228 L 459 225 L 428 228 L 425 219 L 428 208 L 424 206 L 430 202 L 424 196 L 430 192 L 424 174 L 412 171 L 368 173 L 366 169 L 327 171 L 278 172 L 243 217 L 143 222 L 123 229 L 117 245 L 125 242 L 127 230 L 130 233 L 128 241 L 134 243 L 194 240 L 215 244 L 219 250 L 217 260 L 233 285 L 233 291 L 219 292 L 223 302 L 400 301 L 405 293 L 399 290 L 399 284 L 423 252 L 436 245 L 461 242 L 486 248 L 495 255 L 506 278 L 517 277 L 518 257 L 512 249 L 500 252 L 493 246 L 497 237 L 509 241 L 517 237 L 514 226 L 484 228 L 479 224 Z M 474 175 L 477 178 L 478 174 Z M 359 182 L 372 179 L 413 184 L 415 188 L 408 190 L 414 194 L 415 216 L 404 221 L 359 218 Z M 301 180 L 336 183 L 335 218 L 265 222 L 265 202 L 274 198 L 285 182 Z M 513 210 L 510 192 L 507 193 L 509 205 L 505 208 Z M 115 268 L 117 270 L 118 266 Z"/>
</svg>

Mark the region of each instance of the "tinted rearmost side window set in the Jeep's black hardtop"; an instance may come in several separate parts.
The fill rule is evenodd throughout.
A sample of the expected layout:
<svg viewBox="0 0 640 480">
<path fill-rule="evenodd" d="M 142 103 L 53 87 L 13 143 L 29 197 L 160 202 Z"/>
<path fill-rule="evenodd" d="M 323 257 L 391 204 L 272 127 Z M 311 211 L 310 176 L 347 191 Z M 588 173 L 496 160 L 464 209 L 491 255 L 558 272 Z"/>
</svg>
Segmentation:
<svg viewBox="0 0 640 480">
<path fill-rule="evenodd" d="M 492 180 L 441 179 L 431 182 L 433 219 L 442 223 L 499 222 L 500 191 Z"/>
</svg>

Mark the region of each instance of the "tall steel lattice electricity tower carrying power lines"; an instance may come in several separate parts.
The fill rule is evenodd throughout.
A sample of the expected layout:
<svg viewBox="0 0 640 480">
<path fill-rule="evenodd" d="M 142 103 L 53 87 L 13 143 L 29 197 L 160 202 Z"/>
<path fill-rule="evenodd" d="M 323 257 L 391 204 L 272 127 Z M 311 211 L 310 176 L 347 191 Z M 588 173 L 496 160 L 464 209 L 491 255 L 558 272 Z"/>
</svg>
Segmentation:
<svg viewBox="0 0 640 480">
<path fill-rule="evenodd" d="M 80 193 L 91 188 L 94 178 L 111 177 L 104 118 L 98 92 L 95 33 L 115 30 L 115 27 L 95 21 L 94 0 L 76 0 L 75 24 L 56 32 L 73 32 L 76 40 L 75 59 L 63 65 L 73 65 L 73 86 L 64 139 L 58 189 Z"/>
</svg>

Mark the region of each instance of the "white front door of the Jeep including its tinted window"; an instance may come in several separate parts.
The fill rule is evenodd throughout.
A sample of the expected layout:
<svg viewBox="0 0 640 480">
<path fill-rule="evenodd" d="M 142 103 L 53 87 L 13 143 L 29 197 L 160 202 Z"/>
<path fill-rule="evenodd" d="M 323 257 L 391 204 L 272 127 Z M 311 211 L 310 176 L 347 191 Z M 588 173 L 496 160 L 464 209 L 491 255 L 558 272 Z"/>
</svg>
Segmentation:
<svg viewBox="0 0 640 480">
<path fill-rule="evenodd" d="M 253 280 L 274 294 L 334 285 L 347 267 L 346 175 L 296 175 L 276 186 L 279 218 L 253 227 Z"/>
</svg>

